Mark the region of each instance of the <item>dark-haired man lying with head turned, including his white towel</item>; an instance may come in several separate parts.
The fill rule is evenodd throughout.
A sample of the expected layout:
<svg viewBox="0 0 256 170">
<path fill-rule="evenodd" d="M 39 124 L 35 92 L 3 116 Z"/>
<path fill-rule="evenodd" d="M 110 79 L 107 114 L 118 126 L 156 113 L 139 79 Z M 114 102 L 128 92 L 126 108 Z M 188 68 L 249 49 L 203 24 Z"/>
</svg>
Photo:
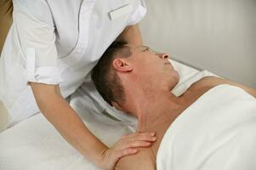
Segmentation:
<svg viewBox="0 0 256 170">
<path fill-rule="evenodd" d="M 157 134 L 117 169 L 256 169 L 255 89 L 204 77 L 176 97 L 179 74 L 168 54 L 126 42 L 111 44 L 92 79 L 106 102 L 138 118 L 138 132 Z"/>
</svg>

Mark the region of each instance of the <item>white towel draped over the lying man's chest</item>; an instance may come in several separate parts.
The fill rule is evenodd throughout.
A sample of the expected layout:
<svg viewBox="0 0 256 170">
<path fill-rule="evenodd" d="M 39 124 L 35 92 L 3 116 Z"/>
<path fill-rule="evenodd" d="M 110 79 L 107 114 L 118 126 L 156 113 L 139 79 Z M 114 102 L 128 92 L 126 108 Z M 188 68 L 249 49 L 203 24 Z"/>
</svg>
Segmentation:
<svg viewBox="0 0 256 170">
<path fill-rule="evenodd" d="M 219 85 L 187 108 L 168 128 L 157 170 L 255 170 L 256 99 Z"/>
</svg>

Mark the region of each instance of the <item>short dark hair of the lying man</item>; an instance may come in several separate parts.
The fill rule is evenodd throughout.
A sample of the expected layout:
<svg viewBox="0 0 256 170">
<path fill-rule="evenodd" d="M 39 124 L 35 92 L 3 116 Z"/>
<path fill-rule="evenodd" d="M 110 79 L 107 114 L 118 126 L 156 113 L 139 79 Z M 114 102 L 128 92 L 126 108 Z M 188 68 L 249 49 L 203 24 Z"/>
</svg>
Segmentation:
<svg viewBox="0 0 256 170">
<path fill-rule="evenodd" d="M 95 87 L 103 99 L 109 104 L 111 102 L 121 103 L 124 101 L 122 82 L 114 71 L 112 62 L 117 57 L 127 58 L 132 54 L 128 42 L 114 41 L 105 50 L 97 65 L 94 66 L 91 77 Z"/>
</svg>

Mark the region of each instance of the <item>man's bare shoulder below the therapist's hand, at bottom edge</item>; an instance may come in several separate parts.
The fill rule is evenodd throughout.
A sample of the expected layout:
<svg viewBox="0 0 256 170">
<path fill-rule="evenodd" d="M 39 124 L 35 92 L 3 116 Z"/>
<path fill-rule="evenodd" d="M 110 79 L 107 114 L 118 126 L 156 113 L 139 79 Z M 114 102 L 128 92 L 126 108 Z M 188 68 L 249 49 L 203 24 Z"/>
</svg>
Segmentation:
<svg viewBox="0 0 256 170">
<path fill-rule="evenodd" d="M 136 155 L 124 156 L 118 162 L 116 170 L 156 170 L 156 157 L 151 148 L 140 148 Z"/>
</svg>

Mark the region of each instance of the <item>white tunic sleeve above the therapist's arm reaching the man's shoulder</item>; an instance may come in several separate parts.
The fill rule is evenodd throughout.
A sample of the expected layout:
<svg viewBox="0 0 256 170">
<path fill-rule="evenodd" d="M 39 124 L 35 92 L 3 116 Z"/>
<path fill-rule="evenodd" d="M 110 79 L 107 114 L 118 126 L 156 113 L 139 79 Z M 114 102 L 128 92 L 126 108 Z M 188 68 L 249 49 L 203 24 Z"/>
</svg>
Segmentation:
<svg viewBox="0 0 256 170">
<path fill-rule="evenodd" d="M 13 17 L 20 53 L 26 59 L 27 81 L 59 84 L 62 79 L 56 65 L 56 37 L 49 9 L 45 10 L 47 6 L 35 7 L 37 8 L 35 14 L 35 11 L 29 10 L 30 8 L 25 10 L 23 7 L 19 6 L 19 3 L 14 3 Z"/>
</svg>

